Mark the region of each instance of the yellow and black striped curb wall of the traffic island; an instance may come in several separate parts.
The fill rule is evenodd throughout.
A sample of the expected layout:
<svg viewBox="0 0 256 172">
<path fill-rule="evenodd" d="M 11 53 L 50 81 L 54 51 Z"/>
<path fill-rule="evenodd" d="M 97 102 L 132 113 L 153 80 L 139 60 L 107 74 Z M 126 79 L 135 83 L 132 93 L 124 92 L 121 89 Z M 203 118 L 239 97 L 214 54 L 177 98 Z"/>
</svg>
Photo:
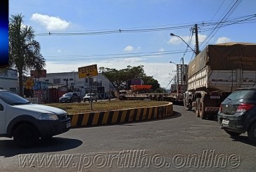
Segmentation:
<svg viewBox="0 0 256 172">
<path fill-rule="evenodd" d="M 172 117 L 172 115 L 172 102 L 169 102 L 167 105 L 153 107 L 139 107 L 125 110 L 68 114 L 68 117 L 71 119 L 71 127 L 87 127 L 163 119 Z"/>
</svg>

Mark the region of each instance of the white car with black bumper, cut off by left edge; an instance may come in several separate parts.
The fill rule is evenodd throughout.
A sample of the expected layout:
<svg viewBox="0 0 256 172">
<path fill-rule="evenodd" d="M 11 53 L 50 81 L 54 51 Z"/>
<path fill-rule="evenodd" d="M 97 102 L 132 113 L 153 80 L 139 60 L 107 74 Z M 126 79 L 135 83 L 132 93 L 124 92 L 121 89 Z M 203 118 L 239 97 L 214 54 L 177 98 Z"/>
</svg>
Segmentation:
<svg viewBox="0 0 256 172">
<path fill-rule="evenodd" d="M 0 136 L 20 147 L 31 147 L 39 138 L 70 130 L 68 113 L 56 107 L 32 104 L 11 91 L 0 90 Z"/>
</svg>

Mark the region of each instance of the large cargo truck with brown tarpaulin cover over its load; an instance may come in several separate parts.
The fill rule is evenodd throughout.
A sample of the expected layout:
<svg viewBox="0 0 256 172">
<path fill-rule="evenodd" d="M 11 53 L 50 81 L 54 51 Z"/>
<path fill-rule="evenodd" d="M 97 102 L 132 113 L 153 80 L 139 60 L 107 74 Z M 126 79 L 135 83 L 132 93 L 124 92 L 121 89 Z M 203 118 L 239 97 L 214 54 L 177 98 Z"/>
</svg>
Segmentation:
<svg viewBox="0 0 256 172">
<path fill-rule="evenodd" d="M 256 85 L 256 44 L 207 45 L 188 63 L 186 76 L 186 110 L 194 109 L 201 119 L 213 119 L 236 88 Z"/>
</svg>

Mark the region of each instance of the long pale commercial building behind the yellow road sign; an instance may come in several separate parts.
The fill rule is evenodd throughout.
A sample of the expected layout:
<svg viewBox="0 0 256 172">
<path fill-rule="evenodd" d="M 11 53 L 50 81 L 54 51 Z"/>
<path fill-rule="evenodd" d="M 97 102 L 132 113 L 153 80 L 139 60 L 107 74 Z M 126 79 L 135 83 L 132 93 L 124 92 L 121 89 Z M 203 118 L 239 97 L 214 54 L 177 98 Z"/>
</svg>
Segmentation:
<svg viewBox="0 0 256 172">
<path fill-rule="evenodd" d="M 114 91 L 110 81 L 101 73 L 90 79 L 79 78 L 78 72 L 47 73 L 45 78 L 34 80 L 35 96 L 41 96 L 48 102 L 58 102 L 58 98 L 68 91 L 77 93 L 81 98 L 91 91 L 98 99 L 108 98 Z"/>
</svg>

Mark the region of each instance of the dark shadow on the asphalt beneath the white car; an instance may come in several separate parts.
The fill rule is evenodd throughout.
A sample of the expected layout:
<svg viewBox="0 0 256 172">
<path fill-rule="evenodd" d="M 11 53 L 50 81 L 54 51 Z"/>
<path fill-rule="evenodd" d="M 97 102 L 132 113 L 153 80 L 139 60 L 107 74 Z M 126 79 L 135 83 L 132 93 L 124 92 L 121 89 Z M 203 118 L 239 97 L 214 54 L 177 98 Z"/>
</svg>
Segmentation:
<svg viewBox="0 0 256 172">
<path fill-rule="evenodd" d="M 72 138 L 53 137 L 49 140 L 40 141 L 35 147 L 17 147 L 12 139 L 0 140 L 0 157 L 13 157 L 18 154 L 30 154 L 41 152 L 58 152 L 70 150 L 82 145 L 81 140 Z"/>
</svg>

